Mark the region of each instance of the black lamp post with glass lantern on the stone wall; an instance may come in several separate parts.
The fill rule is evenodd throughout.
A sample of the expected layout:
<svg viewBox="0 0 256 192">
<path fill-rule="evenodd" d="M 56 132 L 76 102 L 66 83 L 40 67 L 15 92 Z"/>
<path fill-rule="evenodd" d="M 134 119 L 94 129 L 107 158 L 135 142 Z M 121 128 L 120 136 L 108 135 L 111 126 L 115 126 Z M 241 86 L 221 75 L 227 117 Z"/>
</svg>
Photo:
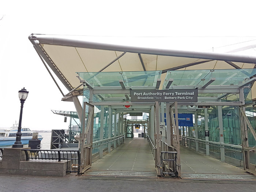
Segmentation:
<svg viewBox="0 0 256 192">
<path fill-rule="evenodd" d="M 21 120 L 22 120 L 22 110 L 23 110 L 23 104 L 27 98 L 27 95 L 29 94 L 29 91 L 25 89 L 25 87 L 19 91 L 19 100 L 20 100 L 20 114 L 19 114 L 19 126 L 18 126 L 18 132 L 16 133 L 16 141 L 12 145 L 12 148 L 22 148 L 23 144 L 21 144 Z"/>
</svg>

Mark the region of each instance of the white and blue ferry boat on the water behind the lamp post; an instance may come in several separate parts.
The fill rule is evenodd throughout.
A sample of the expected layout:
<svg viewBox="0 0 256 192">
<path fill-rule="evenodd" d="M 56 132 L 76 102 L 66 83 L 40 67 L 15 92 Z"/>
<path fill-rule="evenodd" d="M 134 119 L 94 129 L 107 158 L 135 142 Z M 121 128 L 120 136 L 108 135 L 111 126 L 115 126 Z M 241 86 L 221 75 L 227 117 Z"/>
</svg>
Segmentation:
<svg viewBox="0 0 256 192">
<path fill-rule="evenodd" d="M 8 129 L 0 129 L 0 147 L 1 146 L 11 146 L 16 140 L 16 133 L 18 132 L 18 127 L 11 127 Z M 29 128 L 21 128 L 21 143 L 29 144 L 29 140 L 32 139 L 34 131 Z M 42 140 L 42 136 L 38 135 L 38 139 Z"/>
</svg>

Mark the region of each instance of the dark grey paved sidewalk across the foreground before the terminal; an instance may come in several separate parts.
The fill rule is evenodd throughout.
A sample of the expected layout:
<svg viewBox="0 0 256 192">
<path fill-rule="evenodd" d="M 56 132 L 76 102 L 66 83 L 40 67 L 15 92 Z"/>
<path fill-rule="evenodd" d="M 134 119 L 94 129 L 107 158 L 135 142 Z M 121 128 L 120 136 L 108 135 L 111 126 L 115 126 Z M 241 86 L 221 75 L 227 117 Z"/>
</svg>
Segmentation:
<svg viewBox="0 0 256 192">
<path fill-rule="evenodd" d="M 177 192 L 255 192 L 256 181 L 198 181 L 173 178 L 141 179 L 114 177 L 65 177 L 22 176 L 0 174 L 0 191 L 177 191 Z"/>
</svg>

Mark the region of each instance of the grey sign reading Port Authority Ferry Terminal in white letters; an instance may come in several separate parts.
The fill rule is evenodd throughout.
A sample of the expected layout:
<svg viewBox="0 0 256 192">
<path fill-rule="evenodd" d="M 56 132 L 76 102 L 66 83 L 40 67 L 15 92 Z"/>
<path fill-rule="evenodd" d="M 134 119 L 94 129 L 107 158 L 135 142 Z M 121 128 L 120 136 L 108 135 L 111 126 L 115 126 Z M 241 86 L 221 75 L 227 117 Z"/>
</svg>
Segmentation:
<svg viewBox="0 0 256 192">
<path fill-rule="evenodd" d="M 197 89 L 131 90 L 131 102 L 197 102 Z"/>
</svg>

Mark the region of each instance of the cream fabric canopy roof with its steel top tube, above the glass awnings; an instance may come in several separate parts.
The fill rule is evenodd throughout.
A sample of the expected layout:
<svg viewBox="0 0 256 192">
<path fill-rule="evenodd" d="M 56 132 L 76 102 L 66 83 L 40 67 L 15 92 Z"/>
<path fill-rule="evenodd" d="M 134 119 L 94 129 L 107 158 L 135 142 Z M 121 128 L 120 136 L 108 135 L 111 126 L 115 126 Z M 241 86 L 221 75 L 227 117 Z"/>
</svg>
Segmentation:
<svg viewBox="0 0 256 192">
<path fill-rule="evenodd" d="M 168 70 L 255 68 L 256 63 L 255 56 L 113 45 L 83 36 L 31 34 L 29 39 L 69 91 L 80 84 L 76 72 L 162 71 L 164 79 Z"/>
</svg>

